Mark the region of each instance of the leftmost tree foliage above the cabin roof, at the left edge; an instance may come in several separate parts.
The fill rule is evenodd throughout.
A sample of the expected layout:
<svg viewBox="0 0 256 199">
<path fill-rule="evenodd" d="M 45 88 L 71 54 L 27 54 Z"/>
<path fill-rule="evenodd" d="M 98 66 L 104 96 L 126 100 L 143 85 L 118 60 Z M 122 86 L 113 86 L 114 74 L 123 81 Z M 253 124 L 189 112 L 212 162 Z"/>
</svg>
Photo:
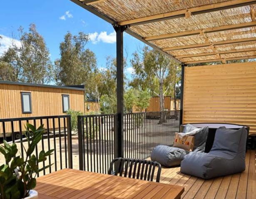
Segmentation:
<svg viewBox="0 0 256 199">
<path fill-rule="evenodd" d="M 52 81 L 52 62 L 45 40 L 35 24 L 29 31 L 18 29 L 20 45 L 12 46 L 0 57 L 0 80 L 44 84 Z"/>
</svg>

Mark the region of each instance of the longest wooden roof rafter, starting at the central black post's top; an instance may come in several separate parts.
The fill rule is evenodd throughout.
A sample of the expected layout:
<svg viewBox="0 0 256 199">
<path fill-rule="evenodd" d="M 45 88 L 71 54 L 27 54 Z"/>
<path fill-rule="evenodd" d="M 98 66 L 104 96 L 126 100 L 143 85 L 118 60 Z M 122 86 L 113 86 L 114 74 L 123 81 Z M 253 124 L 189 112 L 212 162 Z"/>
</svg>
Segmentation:
<svg viewBox="0 0 256 199">
<path fill-rule="evenodd" d="M 185 14 L 187 12 L 190 12 L 191 15 L 198 15 L 198 14 L 203 14 L 207 12 L 230 9 L 234 7 L 242 7 L 242 6 L 251 5 L 255 3 L 256 3 L 255 0 L 231 0 L 227 2 L 214 3 L 214 4 L 199 6 L 199 7 L 191 7 L 183 10 L 177 10 L 177 11 L 162 13 L 158 15 L 151 15 L 147 17 L 141 17 L 137 19 L 130 19 L 130 20 L 119 22 L 118 24 L 121 26 L 141 25 L 141 24 L 147 24 L 152 22 L 158 22 L 162 20 L 185 17 Z"/>
</svg>

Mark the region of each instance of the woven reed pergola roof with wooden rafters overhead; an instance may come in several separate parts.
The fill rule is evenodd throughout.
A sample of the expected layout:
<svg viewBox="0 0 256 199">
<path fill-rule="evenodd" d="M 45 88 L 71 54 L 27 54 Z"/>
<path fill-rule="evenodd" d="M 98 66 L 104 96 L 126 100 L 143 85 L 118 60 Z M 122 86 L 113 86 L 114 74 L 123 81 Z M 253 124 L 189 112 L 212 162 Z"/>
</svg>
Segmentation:
<svg viewBox="0 0 256 199">
<path fill-rule="evenodd" d="M 182 63 L 256 58 L 254 0 L 72 0 Z"/>
</svg>

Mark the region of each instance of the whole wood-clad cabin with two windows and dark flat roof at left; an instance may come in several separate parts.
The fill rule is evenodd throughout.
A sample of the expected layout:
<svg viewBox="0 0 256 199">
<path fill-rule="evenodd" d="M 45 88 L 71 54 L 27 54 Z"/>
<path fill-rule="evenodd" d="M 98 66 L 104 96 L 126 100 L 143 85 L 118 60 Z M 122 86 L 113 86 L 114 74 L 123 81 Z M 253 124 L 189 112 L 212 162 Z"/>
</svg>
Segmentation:
<svg viewBox="0 0 256 199">
<path fill-rule="evenodd" d="M 84 102 L 84 86 L 0 81 L 0 119 L 65 115 L 68 109 L 84 113 Z M 15 131 L 19 129 L 18 125 L 17 122 L 14 123 Z M 52 121 L 49 125 L 52 128 Z M 6 126 L 5 130 L 10 131 L 10 126 Z M 1 133 L 2 125 L 0 125 Z"/>
</svg>

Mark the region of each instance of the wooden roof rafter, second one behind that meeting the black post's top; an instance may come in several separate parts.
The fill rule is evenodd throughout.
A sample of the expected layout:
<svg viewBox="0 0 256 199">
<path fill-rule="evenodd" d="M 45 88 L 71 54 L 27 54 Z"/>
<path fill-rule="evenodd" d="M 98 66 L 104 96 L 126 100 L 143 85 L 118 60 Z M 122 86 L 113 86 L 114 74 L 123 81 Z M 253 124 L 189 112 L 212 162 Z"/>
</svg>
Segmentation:
<svg viewBox="0 0 256 199">
<path fill-rule="evenodd" d="M 248 41 L 256 41 L 256 37 L 251 38 L 243 38 L 243 39 L 231 39 L 231 40 L 224 40 L 224 41 L 217 41 L 217 42 L 206 42 L 203 44 L 192 44 L 192 45 L 184 45 L 184 46 L 174 46 L 174 47 L 168 47 L 163 48 L 163 51 L 176 51 L 176 50 L 182 50 L 182 49 L 193 49 L 193 48 L 199 48 L 199 47 L 206 47 L 206 46 L 219 46 L 224 44 L 236 44 L 236 43 L 243 43 Z"/>
</svg>

